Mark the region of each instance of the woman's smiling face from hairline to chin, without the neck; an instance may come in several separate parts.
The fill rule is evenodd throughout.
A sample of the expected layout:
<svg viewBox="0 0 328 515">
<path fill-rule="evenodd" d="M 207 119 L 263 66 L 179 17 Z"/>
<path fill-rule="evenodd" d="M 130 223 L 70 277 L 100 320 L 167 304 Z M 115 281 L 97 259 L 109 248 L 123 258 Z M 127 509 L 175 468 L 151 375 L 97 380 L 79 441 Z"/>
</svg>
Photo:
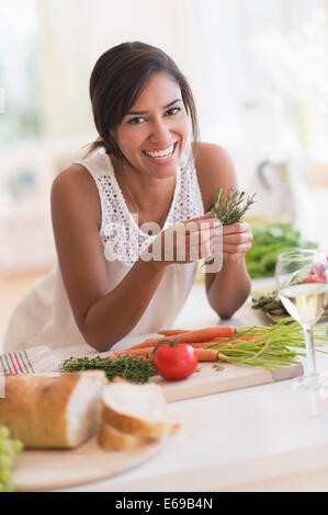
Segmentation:
<svg viewBox="0 0 328 515">
<path fill-rule="evenodd" d="M 129 165 L 151 176 L 177 172 L 186 141 L 189 119 L 179 84 L 166 72 L 154 73 L 115 136 Z"/>
</svg>

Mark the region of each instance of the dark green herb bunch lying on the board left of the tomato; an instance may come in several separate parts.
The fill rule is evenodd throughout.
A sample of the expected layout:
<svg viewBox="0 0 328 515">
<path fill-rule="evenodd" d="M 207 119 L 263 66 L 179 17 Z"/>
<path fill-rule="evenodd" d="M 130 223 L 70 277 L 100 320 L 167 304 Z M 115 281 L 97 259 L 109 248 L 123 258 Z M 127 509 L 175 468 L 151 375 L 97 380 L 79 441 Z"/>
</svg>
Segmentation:
<svg viewBox="0 0 328 515">
<path fill-rule="evenodd" d="M 156 376 L 152 364 L 145 356 L 124 355 L 117 357 L 70 357 L 63 364 L 65 371 L 102 369 L 110 381 L 121 377 L 129 382 L 147 382 L 149 377 Z"/>
</svg>

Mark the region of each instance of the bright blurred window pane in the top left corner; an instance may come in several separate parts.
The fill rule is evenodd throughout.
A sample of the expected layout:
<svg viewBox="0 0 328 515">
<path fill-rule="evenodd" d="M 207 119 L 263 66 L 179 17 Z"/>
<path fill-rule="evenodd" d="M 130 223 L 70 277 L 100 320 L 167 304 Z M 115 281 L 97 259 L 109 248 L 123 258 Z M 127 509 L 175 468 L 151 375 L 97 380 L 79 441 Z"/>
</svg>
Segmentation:
<svg viewBox="0 0 328 515">
<path fill-rule="evenodd" d="M 39 134 L 35 0 L 0 5 L 0 139 Z"/>
</svg>

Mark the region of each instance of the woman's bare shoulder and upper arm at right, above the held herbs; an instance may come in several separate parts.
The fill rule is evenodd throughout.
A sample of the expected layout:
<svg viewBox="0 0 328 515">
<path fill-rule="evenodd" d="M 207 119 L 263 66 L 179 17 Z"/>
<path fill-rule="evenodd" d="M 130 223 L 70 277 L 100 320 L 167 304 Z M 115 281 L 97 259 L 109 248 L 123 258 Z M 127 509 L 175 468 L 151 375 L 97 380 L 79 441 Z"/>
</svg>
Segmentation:
<svg viewBox="0 0 328 515">
<path fill-rule="evenodd" d="M 237 175 L 233 160 L 223 147 L 200 142 L 195 154 L 195 168 L 202 192 L 203 204 L 207 211 L 214 204 L 217 190 L 237 187 Z"/>
</svg>

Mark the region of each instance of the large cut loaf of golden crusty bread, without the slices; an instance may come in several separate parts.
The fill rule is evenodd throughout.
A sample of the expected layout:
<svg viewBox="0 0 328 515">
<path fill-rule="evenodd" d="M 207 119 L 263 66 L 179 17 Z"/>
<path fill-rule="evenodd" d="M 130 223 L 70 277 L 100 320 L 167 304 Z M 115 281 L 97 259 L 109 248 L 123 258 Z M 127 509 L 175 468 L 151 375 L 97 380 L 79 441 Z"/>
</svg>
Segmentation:
<svg viewBox="0 0 328 515">
<path fill-rule="evenodd" d="M 103 370 L 7 377 L 0 425 L 25 448 L 77 447 L 99 428 L 106 382 Z"/>
</svg>

